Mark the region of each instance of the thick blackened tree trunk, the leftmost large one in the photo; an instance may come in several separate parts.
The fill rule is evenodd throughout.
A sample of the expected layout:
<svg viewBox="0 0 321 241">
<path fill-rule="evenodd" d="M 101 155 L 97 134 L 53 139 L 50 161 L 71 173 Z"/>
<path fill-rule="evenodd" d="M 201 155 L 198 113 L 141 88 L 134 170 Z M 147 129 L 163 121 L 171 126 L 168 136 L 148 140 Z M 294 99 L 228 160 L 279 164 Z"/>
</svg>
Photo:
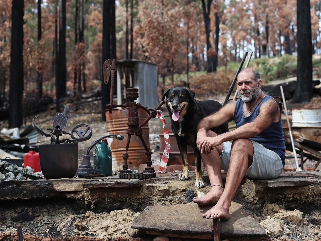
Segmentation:
<svg viewBox="0 0 321 241">
<path fill-rule="evenodd" d="M 12 1 L 9 128 L 20 127 L 22 125 L 23 5 L 23 0 Z"/>
</svg>

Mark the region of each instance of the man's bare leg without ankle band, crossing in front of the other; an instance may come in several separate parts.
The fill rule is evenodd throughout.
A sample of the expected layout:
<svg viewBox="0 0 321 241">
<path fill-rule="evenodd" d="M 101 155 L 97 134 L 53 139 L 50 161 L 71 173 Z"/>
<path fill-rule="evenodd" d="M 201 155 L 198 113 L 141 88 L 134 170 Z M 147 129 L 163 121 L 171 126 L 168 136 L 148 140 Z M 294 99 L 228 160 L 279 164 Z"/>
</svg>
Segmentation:
<svg viewBox="0 0 321 241">
<path fill-rule="evenodd" d="M 246 174 L 247 168 L 253 162 L 253 144 L 249 139 L 234 140 L 231 147 L 229 170 L 227 172 L 225 189 L 216 205 L 207 210 L 202 217 L 222 220 L 230 218 L 230 206 L 239 185 Z"/>
</svg>

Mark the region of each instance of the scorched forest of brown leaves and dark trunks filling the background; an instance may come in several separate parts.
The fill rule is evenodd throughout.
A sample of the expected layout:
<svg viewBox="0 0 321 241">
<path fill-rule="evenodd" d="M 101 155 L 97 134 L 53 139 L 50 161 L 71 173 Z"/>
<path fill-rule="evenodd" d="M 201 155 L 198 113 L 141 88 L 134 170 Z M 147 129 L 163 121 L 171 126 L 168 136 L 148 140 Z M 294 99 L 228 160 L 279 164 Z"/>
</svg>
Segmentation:
<svg viewBox="0 0 321 241">
<path fill-rule="evenodd" d="M 13 42 L 17 4 L 23 35 Z M 320 15 L 320 1 L 311 0 L 312 54 L 321 52 Z M 160 85 L 184 82 L 203 93 L 227 91 L 245 51 L 254 52 L 251 66 L 265 81 L 297 72 L 297 0 L 1 0 L 0 33 L 2 99 L 10 98 L 12 45 L 22 46 L 22 64 L 14 63 L 23 81 L 12 87 L 23 99 L 100 88 L 106 51 L 108 58 L 157 64 Z M 313 60 L 320 76 L 321 60 Z M 14 105 L 21 102 L 23 109 L 27 101 Z M 11 127 L 22 124 L 15 120 Z"/>
</svg>

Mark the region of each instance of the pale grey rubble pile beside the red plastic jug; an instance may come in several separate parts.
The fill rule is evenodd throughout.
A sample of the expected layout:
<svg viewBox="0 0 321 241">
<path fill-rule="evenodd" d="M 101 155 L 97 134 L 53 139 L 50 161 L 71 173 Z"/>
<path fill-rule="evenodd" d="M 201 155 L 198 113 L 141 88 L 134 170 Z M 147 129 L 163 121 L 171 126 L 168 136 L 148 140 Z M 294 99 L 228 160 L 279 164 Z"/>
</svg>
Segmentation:
<svg viewBox="0 0 321 241">
<path fill-rule="evenodd" d="M 12 165 L 6 161 L 0 161 L 0 181 L 9 180 L 26 180 L 26 179 L 41 179 L 43 178 L 40 172 L 33 173 L 30 166 L 23 168 L 21 166 Z"/>
</svg>

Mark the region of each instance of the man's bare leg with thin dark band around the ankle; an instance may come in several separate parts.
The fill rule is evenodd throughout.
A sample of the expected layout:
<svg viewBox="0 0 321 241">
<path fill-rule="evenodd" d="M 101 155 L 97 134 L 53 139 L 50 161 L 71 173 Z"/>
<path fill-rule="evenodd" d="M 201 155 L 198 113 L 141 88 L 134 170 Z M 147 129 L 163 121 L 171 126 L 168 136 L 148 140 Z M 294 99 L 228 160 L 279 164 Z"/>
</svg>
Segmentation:
<svg viewBox="0 0 321 241">
<path fill-rule="evenodd" d="M 217 136 L 217 134 L 211 130 L 207 131 L 208 137 Z M 213 150 L 207 156 L 205 153 L 201 153 L 202 160 L 204 165 L 206 166 L 206 171 L 208 173 L 208 177 L 210 179 L 211 186 L 212 185 L 220 185 L 223 186 L 222 183 L 222 175 L 221 175 L 221 158 L 220 155 L 223 151 L 223 145 L 220 145 Z M 223 188 L 220 186 L 213 186 L 210 192 L 206 193 L 201 198 L 194 198 L 193 201 L 200 206 L 215 204 L 220 199 Z"/>
</svg>

